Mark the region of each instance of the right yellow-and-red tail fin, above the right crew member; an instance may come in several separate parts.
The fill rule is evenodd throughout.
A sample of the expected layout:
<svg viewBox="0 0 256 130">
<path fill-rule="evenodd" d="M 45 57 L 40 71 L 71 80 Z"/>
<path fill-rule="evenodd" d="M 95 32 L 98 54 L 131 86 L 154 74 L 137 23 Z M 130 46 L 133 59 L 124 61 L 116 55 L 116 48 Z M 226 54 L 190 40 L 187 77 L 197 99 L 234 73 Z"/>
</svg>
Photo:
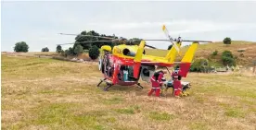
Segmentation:
<svg viewBox="0 0 256 130">
<path fill-rule="evenodd" d="M 186 54 L 183 57 L 180 64 L 180 75 L 182 77 L 186 77 L 197 48 L 198 48 L 198 42 L 193 42 L 188 48 L 188 50 L 186 51 Z"/>
</svg>

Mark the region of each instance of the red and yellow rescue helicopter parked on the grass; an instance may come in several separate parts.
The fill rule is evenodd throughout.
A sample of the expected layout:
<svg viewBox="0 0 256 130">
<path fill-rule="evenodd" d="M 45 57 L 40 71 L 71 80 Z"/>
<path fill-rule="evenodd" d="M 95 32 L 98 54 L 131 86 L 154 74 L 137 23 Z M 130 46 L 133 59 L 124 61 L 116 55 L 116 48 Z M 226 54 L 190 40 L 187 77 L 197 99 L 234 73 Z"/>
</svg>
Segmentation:
<svg viewBox="0 0 256 130">
<path fill-rule="evenodd" d="M 127 41 L 123 39 L 115 39 L 109 37 L 100 37 L 92 35 L 82 35 L 82 34 L 66 34 L 59 33 L 61 35 L 81 35 L 84 37 L 96 37 L 103 38 L 109 41 L 83 41 L 79 43 L 92 43 L 92 42 L 116 42 L 121 41 L 122 44 L 111 47 L 109 45 L 103 45 L 100 48 L 100 55 L 98 57 L 98 69 L 103 74 L 103 79 L 99 81 L 97 87 L 100 86 L 102 82 L 106 82 L 107 87 L 103 90 L 107 91 L 113 85 L 120 86 L 133 86 L 137 85 L 140 89 L 143 87 L 138 82 L 140 77 L 143 81 L 149 83 L 150 77 L 156 72 L 156 66 L 168 67 L 178 64 L 181 70 L 181 77 L 186 77 L 191 62 L 193 60 L 194 54 L 197 50 L 199 42 L 211 42 L 211 41 L 192 41 L 192 44 L 186 51 L 181 62 L 174 62 L 177 54 L 181 54 L 181 44 L 182 39 L 173 39 L 169 35 L 169 31 L 166 29 L 165 25 L 162 26 L 162 30 L 168 37 L 168 40 L 139 40 L 139 45 L 128 45 Z M 168 41 L 173 44 L 173 47 L 168 51 L 165 57 L 148 55 L 145 51 L 145 47 L 151 49 L 157 49 L 154 46 L 148 45 L 146 41 Z M 186 40 L 185 40 L 186 41 Z M 74 44 L 74 43 L 63 43 L 58 45 Z M 168 70 L 171 75 L 170 71 Z"/>
</svg>

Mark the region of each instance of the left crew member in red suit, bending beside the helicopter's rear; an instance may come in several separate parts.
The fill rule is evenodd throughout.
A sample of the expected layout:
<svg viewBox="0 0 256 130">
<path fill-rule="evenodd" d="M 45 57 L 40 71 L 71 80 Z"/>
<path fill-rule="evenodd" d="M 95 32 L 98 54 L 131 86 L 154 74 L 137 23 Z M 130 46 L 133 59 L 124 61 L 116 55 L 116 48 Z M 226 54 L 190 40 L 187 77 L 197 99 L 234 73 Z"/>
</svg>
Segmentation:
<svg viewBox="0 0 256 130">
<path fill-rule="evenodd" d="M 160 87 L 162 85 L 161 78 L 163 77 L 163 75 L 163 71 L 158 71 L 150 78 L 152 89 L 149 90 L 147 94 L 148 96 L 150 96 L 155 91 L 156 96 L 160 97 Z"/>
</svg>

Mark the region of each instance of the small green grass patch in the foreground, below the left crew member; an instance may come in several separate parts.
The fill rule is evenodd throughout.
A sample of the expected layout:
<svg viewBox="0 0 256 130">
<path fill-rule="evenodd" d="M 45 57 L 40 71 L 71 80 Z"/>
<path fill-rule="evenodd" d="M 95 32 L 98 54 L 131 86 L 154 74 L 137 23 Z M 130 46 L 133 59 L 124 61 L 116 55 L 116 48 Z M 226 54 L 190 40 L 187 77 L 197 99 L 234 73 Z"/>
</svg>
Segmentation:
<svg viewBox="0 0 256 130">
<path fill-rule="evenodd" d="M 149 112 L 149 118 L 153 120 L 158 120 L 158 121 L 162 121 L 162 120 L 170 121 L 171 119 L 174 118 L 174 115 L 169 114 L 167 112 Z"/>
</svg>

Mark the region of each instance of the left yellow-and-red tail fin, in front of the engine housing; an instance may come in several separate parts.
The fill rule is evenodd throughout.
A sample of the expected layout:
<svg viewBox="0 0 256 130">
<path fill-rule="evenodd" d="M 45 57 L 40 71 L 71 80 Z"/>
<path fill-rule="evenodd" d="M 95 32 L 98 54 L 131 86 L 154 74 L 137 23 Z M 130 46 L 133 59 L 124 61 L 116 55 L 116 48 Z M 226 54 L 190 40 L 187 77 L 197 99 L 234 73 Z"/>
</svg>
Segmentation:
<svg viewBox="0 0 256 130">
<path fill-rule="evenodd" d="M 135 54 L 135 57 L 134 57 L 134 77 L 135 78 L 139 76 L 139 70 L 140 70 L 144 47 L 145 47 L 145 41 L 140 41 L 137 53 Z"/>
</svg>

